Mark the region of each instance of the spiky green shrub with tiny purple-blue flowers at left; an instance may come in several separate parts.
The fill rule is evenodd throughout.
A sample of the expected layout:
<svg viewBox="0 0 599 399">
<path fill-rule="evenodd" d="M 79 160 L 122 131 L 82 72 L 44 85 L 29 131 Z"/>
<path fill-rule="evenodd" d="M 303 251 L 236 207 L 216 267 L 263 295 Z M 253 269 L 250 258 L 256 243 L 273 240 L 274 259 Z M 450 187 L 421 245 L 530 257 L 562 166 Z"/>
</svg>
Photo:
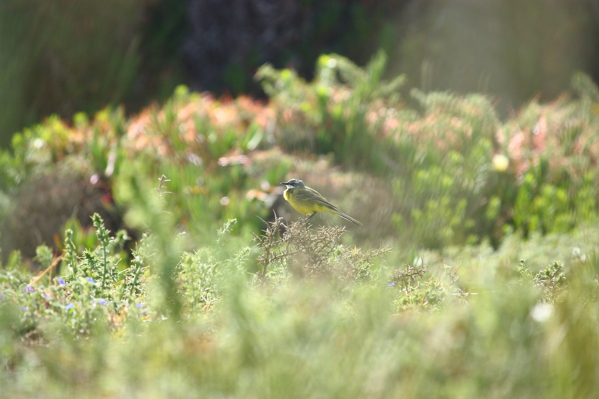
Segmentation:
<svg viewBox="0 0 599 399">
<path fill-rule="evenodd" d="M 125 233 L 111 236 L 98 214 L 92 219 L 98 237 L 95 248 L 77 248 L 72 230 L 66 230 L 61 257 L 55 257 L 47 246 L 37 248 L 36 259 L 45 268 L 39 276 L 11 272 L 4 276 L 2 296 L 8 299 L 10 295 L 23 309 L 20 328 L 37 330 L 49 319 L 65 322 L 77 334 L 89 334 L 96 324 L 114 327 L 116 319 L 122 321 L 129 314 L 129 307 L 144 306 L 145 290 L 141 289 L 140 279 L 146 267 L 141 260 L 148 254 L 137 249 L 131 266 L 119 266 Z M 59 277 L 53 278 L 56 270 Z M 144 312 L 141 307 L 140 314 Z"/>
</svg>

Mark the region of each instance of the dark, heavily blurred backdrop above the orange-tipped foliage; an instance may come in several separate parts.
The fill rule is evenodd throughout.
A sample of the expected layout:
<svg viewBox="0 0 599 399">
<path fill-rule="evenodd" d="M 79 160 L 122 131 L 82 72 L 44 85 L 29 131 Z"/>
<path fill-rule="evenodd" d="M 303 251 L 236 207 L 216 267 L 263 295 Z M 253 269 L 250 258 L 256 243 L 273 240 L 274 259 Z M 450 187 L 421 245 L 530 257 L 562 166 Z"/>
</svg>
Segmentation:
<svg viewBox="0 0 599 399">
<path fill-rule="evenodd" d="M 180 83 L 261 96 L 253 75 L 265 62 L 311 79 L 320 54 L 364 65 L 379 48 L 386 77 L 409 77 L 406 93 L 486 93 L 506 115 L 555 98 L 578 69 L 597 78 L 598 10 L 597 0 L 5 0 L 0 145 L 51 114 L 136 112 Z"/>
</svg>

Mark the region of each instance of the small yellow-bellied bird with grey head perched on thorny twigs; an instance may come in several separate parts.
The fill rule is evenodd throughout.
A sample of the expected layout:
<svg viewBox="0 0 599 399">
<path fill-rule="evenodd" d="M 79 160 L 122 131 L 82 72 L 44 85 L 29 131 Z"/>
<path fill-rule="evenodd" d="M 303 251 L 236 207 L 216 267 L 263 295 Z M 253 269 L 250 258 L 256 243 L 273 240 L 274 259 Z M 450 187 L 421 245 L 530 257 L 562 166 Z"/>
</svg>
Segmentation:
<svg viewBox="0 0 599 399">
<path fill-rule="evenodd" d="M 345 220 L 349 220 L 358 226 L 362 226 L 362 223 L 339 211 L 337 206 L 328 202 L 325 197 L 318 193 L 318 191 L 307 187 L 303 181 L 291 179 L 281 184 L 285 184 L 287 187 L 283 192 L 283 197 L 285 197 L 291 206 L 300 214 L 310 215 L 306 218 L 304 223 L 307 223 L 311 217 L 316 215 L 316 212 L 327 212 L 329 214 L 339 215 Z"/>
</svg>

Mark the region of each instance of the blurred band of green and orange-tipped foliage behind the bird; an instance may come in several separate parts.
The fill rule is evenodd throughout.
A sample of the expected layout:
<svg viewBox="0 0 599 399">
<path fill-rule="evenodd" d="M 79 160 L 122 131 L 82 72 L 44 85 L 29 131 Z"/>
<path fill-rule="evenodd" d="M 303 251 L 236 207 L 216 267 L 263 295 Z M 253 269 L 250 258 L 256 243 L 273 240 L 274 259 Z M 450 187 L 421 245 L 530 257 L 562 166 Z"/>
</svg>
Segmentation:
<svg viewBox="0 0 599 399">
<path fill-rule="evenodd" d="M 291 176 L 364 221 L 356 239 L 409 251 L 497 247 L 510 232 L 570 232 L 595 220 L 599 89 L 587 75 L 503 122 L 480 94 L 413 89 L 407 101 L 403 75 L 383 79 L 386 62 L 383 51 L 364 68 L 322 55 L 311 81 L 264 65 L 256 80 L 268 103 L 180 86 L 132 118 L 106 108 L 23 130 L 0 157 L 4 257 L 60 248 L 60 227 L 89 226 L 93 212 L 111 230 L 126 227 L 130 206 L 116 193 L 131 170 L 170 179 L 162 200 L 178 229 L 199 240 L 229 219 L 249 238 L 273 210 L 298 217 L 280 195 Z"/>
</svg>

